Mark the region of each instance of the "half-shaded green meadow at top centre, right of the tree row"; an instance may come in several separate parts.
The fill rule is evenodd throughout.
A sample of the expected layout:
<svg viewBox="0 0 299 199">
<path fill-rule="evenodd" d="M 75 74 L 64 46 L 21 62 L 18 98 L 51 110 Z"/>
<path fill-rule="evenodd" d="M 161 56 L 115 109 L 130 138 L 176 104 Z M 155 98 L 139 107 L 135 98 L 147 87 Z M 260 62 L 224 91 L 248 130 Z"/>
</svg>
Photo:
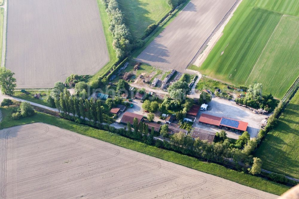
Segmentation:
<svg viewBox="0 0 299 199">
<path fill-rule="evenodd" d="M 171 8 L 165 0 L 119 0 L 133 39 L 141 38 L 150 24 L 159 22 Z"/>
</svg>

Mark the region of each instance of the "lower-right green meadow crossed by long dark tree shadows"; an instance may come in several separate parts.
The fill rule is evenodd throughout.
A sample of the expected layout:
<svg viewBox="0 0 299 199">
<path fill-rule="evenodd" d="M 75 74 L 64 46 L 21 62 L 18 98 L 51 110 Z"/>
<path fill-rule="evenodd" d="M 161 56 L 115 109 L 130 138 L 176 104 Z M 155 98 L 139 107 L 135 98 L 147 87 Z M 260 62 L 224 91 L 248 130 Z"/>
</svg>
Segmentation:
<svg viewBox="0 0 299 199">
<path fill-rule="evenodd" d="M 263 161 L 263 169 L 299 179 L 299 92 L 258 147 L 254 157 Z"/>
</svg>

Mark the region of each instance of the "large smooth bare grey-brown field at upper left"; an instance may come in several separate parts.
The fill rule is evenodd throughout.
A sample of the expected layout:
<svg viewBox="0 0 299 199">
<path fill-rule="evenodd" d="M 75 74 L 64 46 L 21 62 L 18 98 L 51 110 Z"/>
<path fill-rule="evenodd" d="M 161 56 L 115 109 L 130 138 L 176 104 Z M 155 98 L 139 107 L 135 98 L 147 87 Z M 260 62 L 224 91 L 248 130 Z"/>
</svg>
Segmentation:
<svg viewBox="0 0 299 199">
<path fill-rule="evenodd" d="M 5 66 L 17 88 L 52 88 L 109 61 L 97 0 L 9 0 Z"/>
</svg>

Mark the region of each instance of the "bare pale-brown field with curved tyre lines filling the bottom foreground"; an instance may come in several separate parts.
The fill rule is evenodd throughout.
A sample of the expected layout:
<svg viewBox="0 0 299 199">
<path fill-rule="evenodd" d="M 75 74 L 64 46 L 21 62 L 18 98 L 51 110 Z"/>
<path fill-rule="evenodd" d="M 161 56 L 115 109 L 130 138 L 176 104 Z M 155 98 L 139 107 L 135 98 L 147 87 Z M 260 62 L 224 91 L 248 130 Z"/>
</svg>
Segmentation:
<svg viewBox="0 0 299 199">
<path fill-rule="evenodd" d="M 43 123 L 0 131 L 0 198 L 277 198 Z"/>
</svg>

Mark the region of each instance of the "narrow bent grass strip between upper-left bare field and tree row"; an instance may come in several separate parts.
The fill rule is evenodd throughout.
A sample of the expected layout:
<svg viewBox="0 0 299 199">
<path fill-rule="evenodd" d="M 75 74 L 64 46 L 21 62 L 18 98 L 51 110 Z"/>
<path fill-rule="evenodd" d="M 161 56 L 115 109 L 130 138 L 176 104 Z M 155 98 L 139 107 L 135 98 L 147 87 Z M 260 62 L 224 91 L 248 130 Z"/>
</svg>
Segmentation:
<svg viewBox="0 0 299 199">
<path fill-rule="evenodd" d="M 97 80 L 99 77 L 103 77 L 108 71 L 112 69 L 112 67 L 116 64 L 118 61 L 116 57 L 115 50 L 113 49 L 112 42 L 113 42 L 113 36 L 112 33 L 109 30 L 110 27 L 110 22 L 109 22 L 109 16 L 108 13 L 106 12 L 105 6 L 102 4 L 101 0 L 97 0 L 97 4 L 99 7 L 100 11 L 100 17 L 102 21 L 102 26 L 104 30 L 104 35 L 106 38 L 106 44 L 107 44 L 107 49 L 109 53 L 109 62 L 106 63 L 103 68 L 101 68 L 96 74 L 94 74 L 89 82 L 92 82 L 93 80 Z"/>
</svg>

